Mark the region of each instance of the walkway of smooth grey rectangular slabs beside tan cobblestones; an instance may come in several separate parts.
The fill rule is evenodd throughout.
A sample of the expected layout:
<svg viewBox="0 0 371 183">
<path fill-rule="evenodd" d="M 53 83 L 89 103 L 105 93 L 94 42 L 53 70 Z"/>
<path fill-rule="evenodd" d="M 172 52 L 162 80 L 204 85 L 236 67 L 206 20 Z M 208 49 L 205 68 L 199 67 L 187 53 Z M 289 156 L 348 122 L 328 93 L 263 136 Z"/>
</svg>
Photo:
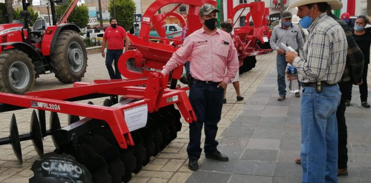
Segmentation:
<svg viewBox="0 0 371 183">
<path fill-rule="evenodd" d="M 272 69 L 219 138 L 219 150 L 230 161 L 205 159 L 186 183 L 301 183 L 301 166 L 294 162 L 300 153 L 301 99 L 287 92 L 277 101 L 277 88 Z M 371 183 L 371 112 L 358 96 L 355 86 L 346 110 L 349 175 L 339 183 Z"/>
</svg>

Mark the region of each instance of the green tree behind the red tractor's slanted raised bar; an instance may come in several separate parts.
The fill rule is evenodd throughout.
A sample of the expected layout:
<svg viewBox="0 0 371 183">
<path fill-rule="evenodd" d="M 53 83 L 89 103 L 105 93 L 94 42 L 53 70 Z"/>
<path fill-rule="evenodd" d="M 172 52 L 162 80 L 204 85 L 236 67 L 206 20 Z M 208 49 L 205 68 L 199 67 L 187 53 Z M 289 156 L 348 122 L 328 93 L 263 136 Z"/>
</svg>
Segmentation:
<svg viewBox="0 0 371 183">
<path fill-rule="evenodd" d="M 61 16 L 64 14 L 64 12 L 66 12 L 69 3 L 71 3 L 71 0 L 68 0 L 68 3 L 66 5 L 57 6 L 55 8 L 59 20 L 61 20 Z M 70 23 L 75 23 L 80 28 L 86 27 L 89 23 L 88 6 L 86 6 L 85 4 L 76 6 L 68 17 L 67 21 Z"/>
</svg>

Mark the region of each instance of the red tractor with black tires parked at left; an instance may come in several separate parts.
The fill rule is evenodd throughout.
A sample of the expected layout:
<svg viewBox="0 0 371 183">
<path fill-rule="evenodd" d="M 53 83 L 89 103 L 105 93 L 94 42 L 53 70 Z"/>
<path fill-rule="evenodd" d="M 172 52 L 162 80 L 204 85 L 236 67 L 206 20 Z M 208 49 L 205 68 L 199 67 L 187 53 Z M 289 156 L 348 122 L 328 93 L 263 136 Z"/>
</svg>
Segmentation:
<svg viewBox="0 0 371 183">
<path fill-rule="evenodd" d="M 57 25 L 54 0 L 50 0 L 53 25 L 46 27 L 44 19 L 30 27 L 30 12 L 22 0 L 24 25 L 0 25 L 0 92 L 24 94 L 32 90 L 40 74 L 53 72 L 63 83 L 80 81 L 87 67 L 84 41 L 75 24 L 65 23 L 76 6 L 70 5 L 62 24 Z"/>
</svg>

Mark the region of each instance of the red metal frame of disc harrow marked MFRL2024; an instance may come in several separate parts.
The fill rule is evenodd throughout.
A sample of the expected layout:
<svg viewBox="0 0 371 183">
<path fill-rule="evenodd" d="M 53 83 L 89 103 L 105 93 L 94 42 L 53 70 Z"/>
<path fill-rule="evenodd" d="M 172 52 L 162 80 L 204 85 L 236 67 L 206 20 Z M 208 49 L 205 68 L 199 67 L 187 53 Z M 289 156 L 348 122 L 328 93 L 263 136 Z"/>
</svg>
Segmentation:
<svg viewBox="0 0 371 183">
<path fill-rule="evenodd" d="M 142 85 L 146 87 L 138 87 Z M 125 109 L 147 105 L 148 112 L 151 113 L 161 107 L 177 104 L 187 123 L 197 120 L 185 91 L 169 90 L 166 86 L 167 78 L 161 73 L 149 73 L 147 79 L 95 80 L 93 84 L 75 83 L 73 88 L 27 92 L 26 95 L 0 92 L 0 103 L 103 120 L 111 128 L 120 147 L 127 148 L 128 145 L 133 146 L 134 141 L 125 123 Z M 93 93 L 122 95 L 138 101 L 120 107 L 64 101 Z M 35 105 L 38 103 L 42 105 Z"/>
</svg>

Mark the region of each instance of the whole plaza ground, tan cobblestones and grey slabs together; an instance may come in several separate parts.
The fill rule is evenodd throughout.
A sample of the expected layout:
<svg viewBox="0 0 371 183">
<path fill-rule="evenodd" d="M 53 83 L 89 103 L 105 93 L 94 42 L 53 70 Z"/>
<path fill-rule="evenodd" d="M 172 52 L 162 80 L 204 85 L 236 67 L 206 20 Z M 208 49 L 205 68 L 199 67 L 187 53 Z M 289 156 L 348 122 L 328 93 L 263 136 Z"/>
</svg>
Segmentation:
<svg viewBox="0 0 371 183">
<path fill-rule="evenodd" d="M 301 168 L 293 163 L 300 149 L 300 99 L 288 94 L 285 101 L 277 102 L 275 55 L 270 53 L 258 56 L 257 66 L 240 76 L 241 93 L 245 97 L 243 101 L 236 102 L 232 85 L 228 88 L 227 104 L 223 107 L 217 138 L 220 141 L 219 149 L 230 156 L 229 162 L 218 163 L 204 160 L 204 156 L 201 156 L 200 170 L 191 172 L 187 168 L 186 155 L 188 125 L 183 122 L 178 137 L 156 157 L 152 157 L 150 163 L 130 183 L 300 182 Z M 100 54 L 88 56 L 89 66 L 82 82 L 109 79 Z M 49 74 L 36 80 L 34 91 L 71 86 L 61 84 L 53 74 Z M 357 90 L 358 87 L 354 87 L 354 93 Z M 350 174 L 340 179 L 342 183 L 366 183 L 365 180 L 371 180 L 371 138 L 368 135 L 371 128 L 368 120 L 370 112 L 361 108 L 355 98 L 352 107 L 347 109 Z M 102 104 L 101 99 L 92 101 L 94 104 Z M 20 134 L 29 132 L 31 112 L 30 109 L 15 112 Z M 9 135 L 12 113 L 0 114 L 1 137 Z M 67 115 L 61 114 L 59 117 L 62 126 L 66 125 Z M 0 146 L 0 183 L 28 183 L 28 179 L 33 176 L 30 167 L 38 156 L 31 140 L 21 142 L 21 146 L 22 165 L 17 162 L 10 145 Z M 50 137 L 44 139 L 44 150 L 45 153 L 54 150 Z"/>
</svg>

